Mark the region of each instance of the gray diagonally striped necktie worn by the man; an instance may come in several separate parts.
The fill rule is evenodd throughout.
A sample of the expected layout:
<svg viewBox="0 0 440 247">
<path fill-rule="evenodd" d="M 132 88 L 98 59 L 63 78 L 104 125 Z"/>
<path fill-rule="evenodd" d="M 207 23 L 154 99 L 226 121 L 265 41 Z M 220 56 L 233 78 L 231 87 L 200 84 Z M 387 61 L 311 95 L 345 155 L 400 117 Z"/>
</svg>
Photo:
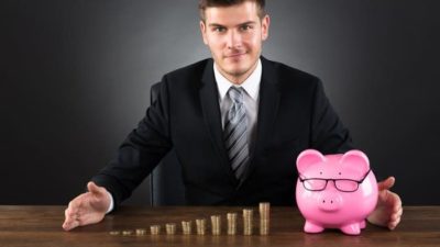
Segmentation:
<svg viewBox="0 0 440 247">
<path fill-rule="evenodd" d="M 224 124 L 224 142 L 232 170 L 235 178 L 240 180 L 249 159 L 248 119 L 243 104 L 244 91 L 242 88 L 231 87 L 228 94 L 232 100 L 232 105 Z"/>
</svg>

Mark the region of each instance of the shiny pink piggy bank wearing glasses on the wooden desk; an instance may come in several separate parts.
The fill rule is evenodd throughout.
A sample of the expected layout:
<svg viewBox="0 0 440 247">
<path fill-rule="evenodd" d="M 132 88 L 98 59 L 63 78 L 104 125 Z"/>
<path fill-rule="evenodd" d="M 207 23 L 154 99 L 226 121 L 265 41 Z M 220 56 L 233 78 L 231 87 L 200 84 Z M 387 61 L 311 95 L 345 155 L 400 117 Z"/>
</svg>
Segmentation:
<svg viewBox="0 0 440 247">
<path fill-rule="evenodd" d="M 350 150 L 323 156 L 308 149 L 297 158 L 296 201 L 306 233 L 339 228 L 359 235 L 377 203 L 377 181 L 366 155 Z"/>
</svg>

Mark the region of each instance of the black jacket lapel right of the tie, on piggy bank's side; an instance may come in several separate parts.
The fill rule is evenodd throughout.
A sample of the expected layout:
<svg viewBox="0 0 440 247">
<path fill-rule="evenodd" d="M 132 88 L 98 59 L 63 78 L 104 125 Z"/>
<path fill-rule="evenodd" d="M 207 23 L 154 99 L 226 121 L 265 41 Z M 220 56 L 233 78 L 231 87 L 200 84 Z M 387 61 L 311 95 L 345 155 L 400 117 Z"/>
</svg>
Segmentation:
<svg viewBox="0 0 440 247">
<path fill-rule="evenodd" d="M 274 68 L 264 57 L 261 57 L 263 74 L 260 83 L 260 102 L 258 102 L 258 115 L 256 122 L 256 141 L 253 150 L 251 150 L 251 158 L 248 170 L 244 173 L 244 178 L 240 182 L 240 188 L 243 182 L 251 176 L 255 169 L 254 157 L 255 154 L 261 154 L 264 148 L 264 144 L 267 142 L 271 135 L 271 130 L 275 121 L 278 104 L 279 104 L 279 90 L 277 87 L 277 77 Z"/>
</svg>

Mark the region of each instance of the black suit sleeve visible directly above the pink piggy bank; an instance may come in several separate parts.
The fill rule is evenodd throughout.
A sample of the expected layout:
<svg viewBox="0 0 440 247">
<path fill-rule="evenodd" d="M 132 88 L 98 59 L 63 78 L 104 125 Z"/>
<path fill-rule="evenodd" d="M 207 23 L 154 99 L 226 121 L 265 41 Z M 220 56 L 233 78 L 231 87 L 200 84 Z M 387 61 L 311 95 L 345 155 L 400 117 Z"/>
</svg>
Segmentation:
<svg viewBox="0 0 440 247">
<path fill-rule="evenodd" d="M 343 126 L 317 79 L 311 120 L 311 148 L 322 154 L 341 154 L 353 149 L 349 130 Z"/>
</svg>

